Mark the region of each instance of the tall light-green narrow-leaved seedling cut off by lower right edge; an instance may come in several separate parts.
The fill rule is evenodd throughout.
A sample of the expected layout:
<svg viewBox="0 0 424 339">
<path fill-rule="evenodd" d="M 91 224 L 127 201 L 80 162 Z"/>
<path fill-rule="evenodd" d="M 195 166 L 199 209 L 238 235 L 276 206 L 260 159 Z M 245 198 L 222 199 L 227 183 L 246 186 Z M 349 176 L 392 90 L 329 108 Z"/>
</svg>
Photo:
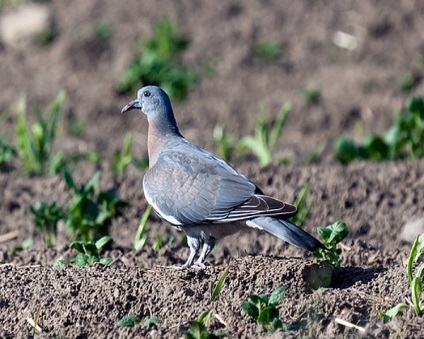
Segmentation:
<svg viewBox="0 0 424 339">
<path fill-rule="evenodd" d="M 424 263 L 422 263 L 422 256 L 424 256 L 424 234 L 421 234 L 415 239 L 406 266 L 406 274 L 411 290 L 410 304 L 414 308 L 417 316 L 422 316 L 424 314 L 424 302 L 421 298 L 424 278 Z M 409 307 L 410 306 L 406 303 L 399 303 L 384 313 L 378 312 L 378 315 L 384 322 L 387 322 Z"/>
</svg>

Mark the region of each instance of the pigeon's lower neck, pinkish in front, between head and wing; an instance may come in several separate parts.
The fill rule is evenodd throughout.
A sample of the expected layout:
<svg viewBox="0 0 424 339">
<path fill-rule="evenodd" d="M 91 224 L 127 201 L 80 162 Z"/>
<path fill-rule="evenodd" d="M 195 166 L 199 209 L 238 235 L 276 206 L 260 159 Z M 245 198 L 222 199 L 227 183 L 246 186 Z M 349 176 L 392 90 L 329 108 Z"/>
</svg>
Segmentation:
<svg viewBox="0 0 424 339">
<path fill-rule="evenodd" d="M 170 145 L 178 142 L 178 139 L 183 138 L 175 124 L 161 123 L 156 124 L 155 121 L 149 122 L 148 131 L 148 152 L 149 152 L 149 167 L 152 167 L 158 160 L 159 154 L 170 148 Z"/>
</svg>

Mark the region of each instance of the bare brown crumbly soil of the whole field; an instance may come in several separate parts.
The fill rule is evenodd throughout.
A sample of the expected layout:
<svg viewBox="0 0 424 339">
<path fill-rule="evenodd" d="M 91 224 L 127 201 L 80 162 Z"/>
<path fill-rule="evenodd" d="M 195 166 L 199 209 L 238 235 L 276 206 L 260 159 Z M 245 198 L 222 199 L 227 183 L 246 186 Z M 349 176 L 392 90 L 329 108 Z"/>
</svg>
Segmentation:
<svg viewBox="0 0 424 339">
<path fill-rule="evenodd" d="M 99 152 L 105 159 L 100 186 L 113 186 L 108 163 L 124 134 L 133 133 L 136 155 L 147 152 L 145 117 L 119 114 L 135 93 L 118 95 L 116 83 L 140 39 L 150 36 L 155 18 L 168 16 L 191 39 L 184 62 L 202 74 L 188 100 L 174 105 L 183 134 L 214 151 L 216 124 L 236 137 L 248 135 L 261 104 L 272 119 L 283 102 L 291 101 L 293 111 L 276 146 L 275 164 L 261 167 L 253 155 L 232 164 L 266 193 L 289 202 L 309 181 L 308 197 L 314 204 L 305 229 L 316 235 L 316 226 L 342 219 L 349 236 L 343 242 L 342 266 L 334 270 L 328 288 L 311 288 L 311 271 L 318 262 L 309 253 L 255 230 L 219 242 L 206 270 L 171 269 L 185 261 L 188 248 L 182 234 L 156 216 L 149 219 L 148 244 L 133 249 L 147 203 L 141 187 L 144 172 L 131 166 L 118 187 L 130 206 L 113 223 L 113 244 L 105 253 L 112 264 L 54 269 L 59 258 L 70 255 L 69 239 L 60 227 L 56 247 L 46 248 L 28 207 L 38 200 L 64 205 L 69 193 L 61 176 L 26 176 L 17 161 L 0 174 L 0 235 L 18 231 L 0 243 L 0 337 L 31 337 L 27 318 L 34 319 L 37 310 L 42 329 L 37 337 L 183 337 L 190 322 L 207 309 L 217 315 L 208 328 L 231 338 L 424 336 L 423 319 L 412 308 L 386 324 L 378 317 L 379 311 L 410 297 L 404 263 L 411 239 L 405 241 L 402 232 L 408 221 L 424 216 L 424 161 L 341 166 L 332 146 L 341 135 L 361 139 L 384 132 L 409 95 L 424 93 L 424 2 L 228 1 L 217 6 L 194 0 L 75 0 L 47 6 L 59 32 L 51 45 L 1 46 L 2 135 L 15 140 L 16 102 L 22 93 L 33 112 L 65 89 L 56 148 Z M 112 27 L 106 40 L 93 33 L 102 21 Z M 337 31 L 355 36 L 357 47 L 336 46 Z M 281 55 L 274 60 L 255 56 L 252 45 L 261 40 L 280 43 Z M 205 71 L 210 65 L 213 74 Z M 399 86 L 406 72 L 415 79 L 410 92 Z M 305 89 L 321 92 L 318 104 L 305 104 Z M 85 128 L 80 138 L 68 128 L 75 119 Z M 317 157 L 307 163 L 314 152 Z M 283 158 L 288 165 L 278 165 Z M 80 164 L 77 181 L 86 182 L 93 171 L 92 165 Z M 154 251 L 158 234 L 174 241 Z M 33 246 L 14 251 L 27 238 Z M 228 266 L 227 282 L 212 302 L 210 284 Z M 242 312 L 241 303 L 250 293 L 270 293 L 279 286 L 287 287 L 280 319 L 300 327 L 269 334 Z M 127 315 L 161 322 L 150 329 L 142 324 L 116 327 Z M 366 333 L 336 323 L 337 318 Z"/>
</svg>

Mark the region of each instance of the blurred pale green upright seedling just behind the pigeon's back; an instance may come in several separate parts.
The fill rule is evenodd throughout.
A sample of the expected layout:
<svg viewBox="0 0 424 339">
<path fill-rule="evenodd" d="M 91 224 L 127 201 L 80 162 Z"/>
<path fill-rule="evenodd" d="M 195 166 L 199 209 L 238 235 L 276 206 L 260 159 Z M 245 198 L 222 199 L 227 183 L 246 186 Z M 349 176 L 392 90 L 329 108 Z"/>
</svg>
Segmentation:
<svg viewBox="0 0 424 339">
<path fill-rule="evenodd" d="M 255 135 L 245 136 L 240 139 L 240 151 L 244 152 L 246 149 L 250 149 L 258 157 L 262 166 L 270 164 L 272 162 L 272 150 L 280 137 L 287 115 L 291 110 L 291 103 L 285 103 L 281 107 L 274 124 L 270 124 L 264 118 L 262 107 L 256 120 Z"/>
</svg>

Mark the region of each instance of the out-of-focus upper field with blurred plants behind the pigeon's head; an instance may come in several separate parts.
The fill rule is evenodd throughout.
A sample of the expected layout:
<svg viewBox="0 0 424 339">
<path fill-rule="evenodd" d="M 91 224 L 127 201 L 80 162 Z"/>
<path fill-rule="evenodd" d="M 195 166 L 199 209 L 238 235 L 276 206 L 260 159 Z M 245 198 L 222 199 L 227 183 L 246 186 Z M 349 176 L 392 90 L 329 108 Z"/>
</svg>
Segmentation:
<svg viewBox="0 0 424 339">
<path fill-rule="evenodd" d="M 233 162 L 255 154 L 223 150 L 223 134 L 237 145 L 287 102 L 274 159 L 333 162 L 337 138 L 384 132 L 424 92 L 423 13 L 413 0 L 2 0 L 0 134 L 15 142 L 22 96 L 32 121 L 64 90 L 55 148 L 107 158 L 132 132 L 141 159 L 146 121 L 119 112 L 154 83 L 183 134 Z"/>
</svg>

